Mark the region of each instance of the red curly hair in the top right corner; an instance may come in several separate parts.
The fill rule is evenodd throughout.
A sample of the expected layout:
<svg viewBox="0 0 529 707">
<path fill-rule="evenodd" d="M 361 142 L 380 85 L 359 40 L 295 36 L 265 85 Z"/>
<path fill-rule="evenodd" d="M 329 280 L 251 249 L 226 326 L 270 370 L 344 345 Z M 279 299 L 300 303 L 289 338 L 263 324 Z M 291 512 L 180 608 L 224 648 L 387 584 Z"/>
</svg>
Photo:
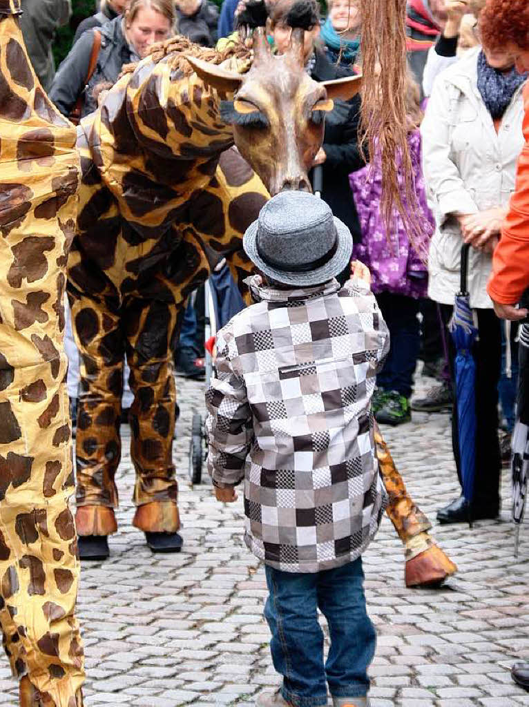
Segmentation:
<svg viewBox="0 0 529 707">
<path fill-rule="evenodd" d="M 487 0 L 479 16 L 483 44 L 490 49 L 529 49 L 529 1 Z"/>
</svg>

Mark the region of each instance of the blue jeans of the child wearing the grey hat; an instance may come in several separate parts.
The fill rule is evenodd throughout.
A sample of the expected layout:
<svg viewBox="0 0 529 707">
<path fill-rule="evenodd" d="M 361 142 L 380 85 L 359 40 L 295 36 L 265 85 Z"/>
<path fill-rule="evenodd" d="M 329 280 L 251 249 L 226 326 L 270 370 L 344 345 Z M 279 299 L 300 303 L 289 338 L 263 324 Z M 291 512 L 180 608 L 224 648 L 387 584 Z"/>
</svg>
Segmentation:
<svg viewBox="0 0 529 707">
<path fill-rule="evenodd" d="M 327 683 L 334 697 L 366 696 L 376 633 L 367 615 L 361 558 L 313 574 L 265 570 L 265 618 L 272 631 L 274 667 L 283 675 L 284 699 L 296 707 L 326 705 Z M 325 664 L 318 608 L 329 625 Z"/>
</svg>

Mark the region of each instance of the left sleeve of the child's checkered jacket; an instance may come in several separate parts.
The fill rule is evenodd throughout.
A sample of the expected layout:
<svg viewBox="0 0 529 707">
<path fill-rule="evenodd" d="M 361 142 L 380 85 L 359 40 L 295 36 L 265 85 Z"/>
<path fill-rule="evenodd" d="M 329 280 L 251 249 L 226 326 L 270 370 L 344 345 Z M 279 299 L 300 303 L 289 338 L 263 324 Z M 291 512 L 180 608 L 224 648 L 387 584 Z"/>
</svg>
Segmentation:
<svg viewBox="0 0 529 707">
<path fill-rule="evenodd" d="M 226 341 L 230 336 L 227 327 L 219 334 L 217 375 L 206 392 L 208 472 L 214 486 L 220 488 L 236 486 L 244 479 L 252 439 L 252 413 L 244 380 L 236 375 L 230 361 Z"/>
</svg>

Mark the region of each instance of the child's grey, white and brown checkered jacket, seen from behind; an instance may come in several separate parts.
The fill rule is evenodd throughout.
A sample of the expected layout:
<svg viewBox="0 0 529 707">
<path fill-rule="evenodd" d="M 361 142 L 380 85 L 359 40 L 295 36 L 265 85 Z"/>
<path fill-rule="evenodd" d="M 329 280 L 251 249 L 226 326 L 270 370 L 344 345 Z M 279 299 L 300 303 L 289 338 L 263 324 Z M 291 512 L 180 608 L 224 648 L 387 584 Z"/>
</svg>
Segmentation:
<svg viewBox="0 0 529 707">
<path fill-rule="evenodd" d="M 361 281 L 281 291 L 217 339 L 206 394 L 209 473 L 245 479 L 245 542 L 268 565 L 318 572 L 355 560 L 385 507 L 371 396 L 389 334 Z"/>
</svg>

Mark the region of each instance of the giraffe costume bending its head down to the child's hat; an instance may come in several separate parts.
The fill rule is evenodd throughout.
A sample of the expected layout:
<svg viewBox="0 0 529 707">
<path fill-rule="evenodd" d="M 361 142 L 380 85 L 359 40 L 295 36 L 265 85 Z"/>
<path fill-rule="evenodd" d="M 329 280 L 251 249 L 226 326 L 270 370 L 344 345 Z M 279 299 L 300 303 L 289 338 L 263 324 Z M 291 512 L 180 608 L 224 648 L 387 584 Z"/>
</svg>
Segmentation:
<svg viewBox="0 0 529 707">
<path fill-rule="evenodd" d="M 296 171 L 281 156 L 296 153 L 308 168 L 321 144 L 322 119 L 317 128 L 318 121 L 303 117 L 308 112 L 304 101 L 312 96 L 313 110 L 332 110 L 328 98 L 341 95 L 339 85 L 351 82 L 327 82 L 325 93 L 323 84 L 303 71 L 295 57 L 302 49 L 292 41 L 290 55 L 272 57 L 264 33 L 257 30 L 251 64 L 243 45 L 217 53 L 177 37 L 122 76 L 98 111 L 81 123 L 81 206 L 69 259 L 69 296 L 82 361 L 81 536 L 117 529 L 114 475 L 120 461 L 124 354 L 134 393 L 134 525 L 165 533 L 180 526 L 171 445 L 172 356 L 182 305 L 221 257 L 228 258 L 239 283 L 248 274 L 242 235 L 268 198 L 248 163 L 272 192 L 286 184 L 307 188 L 301 165 Z M 255 103 L 267 105 L 266 116 Z M 261 132 L 245 136 L 245 125 Z M 248 163 L 231 148 L 234 141 Z M 287 162 L 281 173 L 281 163 Z M 407 559 L 428 554 L 429 582 L 446 578 L 455 566 L 426 535 L 429 522 L 407 495 L 389 455 L 381 469 L 392 499 L 390 517 L 407 545 Z M 413 574 L 417 580 L 417 571 Z M 421 583 L 422 571 L 418 575 Z"/>
</svg>

